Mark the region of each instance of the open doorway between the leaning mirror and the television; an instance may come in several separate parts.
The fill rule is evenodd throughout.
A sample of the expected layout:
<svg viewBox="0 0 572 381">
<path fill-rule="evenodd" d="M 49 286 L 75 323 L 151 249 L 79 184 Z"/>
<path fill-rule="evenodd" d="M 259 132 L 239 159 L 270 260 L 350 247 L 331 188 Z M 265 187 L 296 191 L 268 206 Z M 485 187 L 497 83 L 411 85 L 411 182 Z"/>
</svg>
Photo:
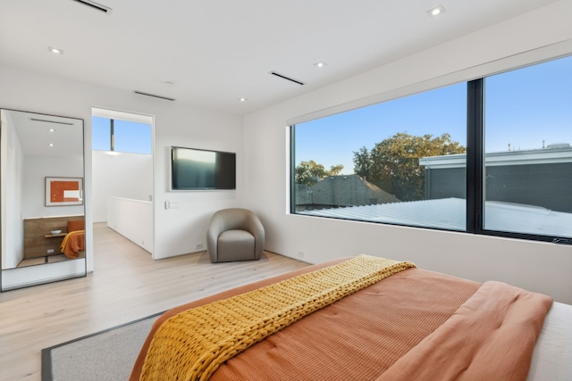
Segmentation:
<svg viewBox="0 0 572 381">
<path fill-rule="evenodd" d="M 153 258 L 154 118 L 93 107 L 91 127 L 93 222 L 105 222 Z"/>
</svg>

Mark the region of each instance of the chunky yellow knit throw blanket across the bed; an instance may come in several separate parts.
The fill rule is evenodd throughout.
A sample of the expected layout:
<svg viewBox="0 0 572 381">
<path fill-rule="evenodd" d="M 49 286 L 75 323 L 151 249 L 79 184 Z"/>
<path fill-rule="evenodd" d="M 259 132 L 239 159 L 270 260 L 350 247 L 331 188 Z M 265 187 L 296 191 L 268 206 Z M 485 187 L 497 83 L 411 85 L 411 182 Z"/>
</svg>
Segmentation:
<svg viewBox="0 0 572 381">
<path fill-rule="evenodd" d="M 232 356 L 403 269 L 411 262 L 359 255 L 255 291 L 182 311 L 151 342 L 141 380 L 206 380 Z"/>
</svg>

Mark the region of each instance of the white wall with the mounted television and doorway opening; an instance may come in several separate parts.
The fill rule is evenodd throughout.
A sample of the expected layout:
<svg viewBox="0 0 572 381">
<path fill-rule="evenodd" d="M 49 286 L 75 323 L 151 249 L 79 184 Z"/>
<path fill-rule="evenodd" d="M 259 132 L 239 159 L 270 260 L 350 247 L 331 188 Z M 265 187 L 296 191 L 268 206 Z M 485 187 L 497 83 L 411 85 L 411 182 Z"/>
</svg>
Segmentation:
<svg viewBox="0 0 572 381">
<path fill-rule="evenodd" d="M 145 79 L 141 79 L 144 84 Z M 242 120 L 221 112 L 198 109 L 189 104 L 169 102 L 114 88 L 97 87 L 46 76 L 29 70 L 0 66 L 0 107 L 43 112 L 84 120 L 85 152 L 91 152 L 91 108 L 138 112 L 155 117 L 154 214 L 155 258 L 195 251 L 204 242 L 212 213 L 224 207 L 242 205 L 244 193 Z M 237 190 L 221 192 L 170 193 L 168 188 L 168 147 L 170 145 L 219 149 L 237 153 Z M 86 155 L 86 249 L 93 253 L 92 157 Z M 165 210 L 164 201 L 178 201 L 180 209 Z M 88 254 L 88 271 L 93 257 Z"/>
</svg>

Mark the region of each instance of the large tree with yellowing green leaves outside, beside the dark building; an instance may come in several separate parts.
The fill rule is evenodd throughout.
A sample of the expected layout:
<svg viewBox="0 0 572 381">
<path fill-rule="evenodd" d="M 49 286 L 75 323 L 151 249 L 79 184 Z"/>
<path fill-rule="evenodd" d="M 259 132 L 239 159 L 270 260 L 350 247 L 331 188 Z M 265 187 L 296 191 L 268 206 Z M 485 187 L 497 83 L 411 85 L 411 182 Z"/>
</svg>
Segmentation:
<svg viewBox="0 0 572 381">
<path fill-rule="evenodd" d="M 451 141 L 449 134 L 416 137 L 398 132 L 376 143 L 371 151 L 363 146 L 354 152 L 354 172 L 401 201 L 423 200 L 425 168 L 419 159 L 465 152 L 466 148 Z"/>
</svg>

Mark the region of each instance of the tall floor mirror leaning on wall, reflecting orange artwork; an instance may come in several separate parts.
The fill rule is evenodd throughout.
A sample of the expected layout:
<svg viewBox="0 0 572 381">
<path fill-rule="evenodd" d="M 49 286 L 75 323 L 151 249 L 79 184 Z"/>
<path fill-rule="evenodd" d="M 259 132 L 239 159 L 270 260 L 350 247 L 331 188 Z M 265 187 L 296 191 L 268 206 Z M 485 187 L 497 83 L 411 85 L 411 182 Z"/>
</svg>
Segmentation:
<svg viewBox="0 0 572 381">
<path fill-rule="evenodd" d="M 85 276 L 83 120 L 0 109 L 2 291 Z"/>
</svg>

